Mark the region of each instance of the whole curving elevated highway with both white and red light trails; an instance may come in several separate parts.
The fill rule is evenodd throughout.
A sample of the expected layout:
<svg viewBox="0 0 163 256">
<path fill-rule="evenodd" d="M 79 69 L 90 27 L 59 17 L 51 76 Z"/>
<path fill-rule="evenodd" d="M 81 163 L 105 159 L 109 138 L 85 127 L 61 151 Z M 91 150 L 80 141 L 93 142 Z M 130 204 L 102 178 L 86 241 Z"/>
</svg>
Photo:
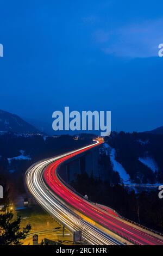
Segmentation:
<svg viewBox="0 0 163 256">
<path fill-rule="evenodd" d="M 61 163 L 99 144 L 101 142 L 34 164 L 26 172 L 28 190 L 68 230 L 83 230 L 85 240 L 91 245 L 121 245 L 121 242 L 110 236 L 109 230 L 135 245 L 163 245 L 160 237 L 132 227 L 105 206 L 88 202 L 60 179 Z"/>
</svg>

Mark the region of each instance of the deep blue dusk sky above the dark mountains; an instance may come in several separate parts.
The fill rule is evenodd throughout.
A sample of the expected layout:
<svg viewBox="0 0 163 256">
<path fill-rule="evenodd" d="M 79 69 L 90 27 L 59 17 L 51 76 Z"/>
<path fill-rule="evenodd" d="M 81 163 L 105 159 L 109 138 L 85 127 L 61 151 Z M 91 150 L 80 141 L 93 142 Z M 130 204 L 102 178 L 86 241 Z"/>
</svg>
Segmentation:
<svg viewBox="0 0 163 256">
<path fill-rule="evenodd" d="M 108 110 L 112 130 L 163 125 L 163 2 L 0 1 L 0 108 L 52 124 L 52 112 Z"/>
</svg>

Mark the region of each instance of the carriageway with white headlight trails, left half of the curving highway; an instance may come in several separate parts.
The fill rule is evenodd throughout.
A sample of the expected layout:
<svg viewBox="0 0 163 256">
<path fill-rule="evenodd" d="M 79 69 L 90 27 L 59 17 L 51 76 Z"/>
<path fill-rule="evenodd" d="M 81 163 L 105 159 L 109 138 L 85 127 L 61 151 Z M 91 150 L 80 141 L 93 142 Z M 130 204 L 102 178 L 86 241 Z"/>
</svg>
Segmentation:
<svg viewBox="0 0 163 256">
<path fill-rule="evenodd" d="M 87 150 L 95 146 L 96 144 L 92 144 L 80 150 Z M 33 194 L 34 198 L 43 207 L 43 209 L 54 217 L 55 220 L 64 224 L 68 230 L 72 232 L 83 230 L 83 236 L 87 243 L 91 245 L 121 245 L 121 242 L 104 233 L 104 231 L 98 229 L 95 225 L 85 221 L 70 209 L 70 205 L 64 202 L 58 194 L 49 189 L 43 177 L 43 173 L 48 164 L 56 162 L 57 160 L 73 153 L 79 154 L 80 150 L 74 150 L 71 151 L 71 153 L 63 154 L 33 164 L 33 166 L 26 172 L 26 184 L 28 190 Z"/>
</svg>

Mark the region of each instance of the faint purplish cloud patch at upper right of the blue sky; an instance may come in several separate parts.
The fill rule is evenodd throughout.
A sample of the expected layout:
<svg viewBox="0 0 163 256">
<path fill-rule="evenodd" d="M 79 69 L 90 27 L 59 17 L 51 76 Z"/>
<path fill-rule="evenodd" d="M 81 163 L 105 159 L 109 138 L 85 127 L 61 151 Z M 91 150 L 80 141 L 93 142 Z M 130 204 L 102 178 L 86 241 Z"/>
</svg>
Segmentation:
<svg viewBox="0 0 163 256">
<path fill-rule="evenodd" d="M 114 31 L 96 31 L 96 43 L 106 54 L 121 57 L 158 56 L 163 43 L 163 19 L 134 23 Z"/>
</svg>

